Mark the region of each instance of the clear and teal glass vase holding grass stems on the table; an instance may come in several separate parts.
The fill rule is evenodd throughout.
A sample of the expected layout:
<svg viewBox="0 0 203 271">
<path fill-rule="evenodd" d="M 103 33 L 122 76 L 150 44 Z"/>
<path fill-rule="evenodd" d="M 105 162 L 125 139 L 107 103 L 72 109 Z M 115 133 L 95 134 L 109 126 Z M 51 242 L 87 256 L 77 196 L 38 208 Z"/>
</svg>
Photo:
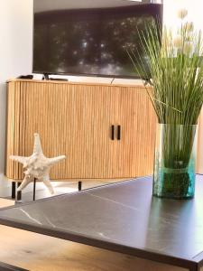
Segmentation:
<svg viewBox="0 0 203 271">
<path fill-rule="evenodd" d="M 171 199 L 194 197 L 197 130 L 197 125 L 157 125 L 153 196 Z"/>
</svg>

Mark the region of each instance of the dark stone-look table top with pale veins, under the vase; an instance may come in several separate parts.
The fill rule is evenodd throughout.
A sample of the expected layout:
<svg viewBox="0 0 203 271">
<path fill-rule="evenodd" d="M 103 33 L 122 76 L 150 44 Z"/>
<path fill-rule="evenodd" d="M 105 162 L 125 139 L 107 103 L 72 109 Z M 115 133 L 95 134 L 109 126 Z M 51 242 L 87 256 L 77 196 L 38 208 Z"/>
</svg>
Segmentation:
<svg viewBox="0 0 203 271">
<path fill-rule="evenodd" d="M 203 176 L 193 200 L 152 197 L 152 177 L 0 210 L 0 223 L 198 270 L 203 265 Z"/>
</svg>

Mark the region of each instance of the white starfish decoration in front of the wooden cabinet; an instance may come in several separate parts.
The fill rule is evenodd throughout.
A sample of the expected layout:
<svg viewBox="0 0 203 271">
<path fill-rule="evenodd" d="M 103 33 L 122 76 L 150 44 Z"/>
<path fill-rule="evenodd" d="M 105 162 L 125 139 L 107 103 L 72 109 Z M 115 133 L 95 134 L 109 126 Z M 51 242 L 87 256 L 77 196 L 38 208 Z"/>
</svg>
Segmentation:
<svg viewBox="0 0 203 271">
<path fill-rule="evenodd" d="M 57 164 L 65 158 L 65 155 L 53 158 L 47 158 L 46 156 L 44 156 L 42 152 L 40 135 L 35 133 L 33 153 L 31 156 L 10 156 L 10 159 L 23 164 L 23 169 L 25 169 L 25 171 L 23 172 L 25 174 L 23 182 L 18 187 L 17 191 L 22 191 L 23 188 L 28 185 L 28 183 L 33 182 L 34 178 L 36 178 L 39 181 L 42 181 L 47 186 L 51 194 L 53 194 L 54 191 L 51 185 L 49 171 L 53 164 Z"/>
</svg>

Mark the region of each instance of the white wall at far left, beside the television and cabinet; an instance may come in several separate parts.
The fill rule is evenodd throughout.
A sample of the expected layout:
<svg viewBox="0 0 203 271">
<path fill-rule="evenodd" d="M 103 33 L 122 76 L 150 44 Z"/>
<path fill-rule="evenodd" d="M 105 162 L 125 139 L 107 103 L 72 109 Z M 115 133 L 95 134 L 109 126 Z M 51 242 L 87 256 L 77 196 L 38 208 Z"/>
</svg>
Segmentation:
<svg viewBox="0 0 203 271">
<path fill-rule="evenodd" d="M 5 81 L 32 70 L 32 0 L 0 1 L 0 190 L 5 168 Z"/>
</svg>

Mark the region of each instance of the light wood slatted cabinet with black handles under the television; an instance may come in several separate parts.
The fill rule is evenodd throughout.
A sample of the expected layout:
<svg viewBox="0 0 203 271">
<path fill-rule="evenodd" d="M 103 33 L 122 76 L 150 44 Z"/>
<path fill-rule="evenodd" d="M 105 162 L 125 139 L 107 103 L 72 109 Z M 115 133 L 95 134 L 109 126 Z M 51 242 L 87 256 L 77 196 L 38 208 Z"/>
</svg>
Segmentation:
<svg viewBox="0 0 203 271">
<path fill-rule="evenodd" d="M 67 155 L 51 169 L 51 179 L 151 174 L 155 122 L 149 98 L 140 86 L 10 80 L 5 174 L 15 180 L 23 178 L 22 166 L 8 157 L 32 154 L 35 132 L 41 135 L 45 155 Z"/>
</svg>

